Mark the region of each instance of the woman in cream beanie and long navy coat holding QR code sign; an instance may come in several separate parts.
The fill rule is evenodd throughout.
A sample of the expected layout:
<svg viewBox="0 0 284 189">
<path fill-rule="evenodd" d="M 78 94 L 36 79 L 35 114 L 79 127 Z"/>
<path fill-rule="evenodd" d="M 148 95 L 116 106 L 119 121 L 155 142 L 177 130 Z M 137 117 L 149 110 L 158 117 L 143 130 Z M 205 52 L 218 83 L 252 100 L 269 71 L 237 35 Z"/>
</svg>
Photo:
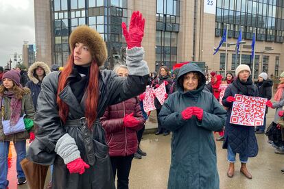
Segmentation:
<svg viewBox="0 0 284 189">
<path fill-rule="evenodd" d="M 235 70 L 237 77 L 233 84 L 230 84 L 225 91 L 222 99 L 222 104 L 228 108 L 227 121 L 225 127 L 223 148 L 227 149 L 227 160 L 229 168 L 227 175 L 233 177 L 235 173 L 235 157 L 239 153 L 239 160 L 241 161 L 241 173 L 248 179 L 252 179 L 252 175 L 248 172 L 246 163 L 248 157 L 255 157 L 259 151 L 257 145 L 257 138 L 255 137 L 255 128 L 243 125 L 235 125 L 230 123 L 230 114 L 235 101 L 235 95 L 246 95 L 250 97 L 258 97 L 259 92 L 257 86 L 252 84 L 250 77 L 250 67 L 246 64 L 237 66 Z"/>
</svg>

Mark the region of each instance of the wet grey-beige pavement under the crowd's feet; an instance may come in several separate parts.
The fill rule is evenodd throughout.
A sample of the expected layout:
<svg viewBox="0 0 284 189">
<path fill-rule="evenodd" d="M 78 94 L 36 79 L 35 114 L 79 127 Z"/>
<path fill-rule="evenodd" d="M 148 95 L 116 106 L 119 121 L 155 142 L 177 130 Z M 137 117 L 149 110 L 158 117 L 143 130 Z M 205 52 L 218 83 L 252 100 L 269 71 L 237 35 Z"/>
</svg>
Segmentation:
<svg viewBox="0 0 284 189">
<path fill-rule="evenodd" d="M 267 123 L 271 123 L 274 118 L 275 110 L 269 110 Z M 152 119 L 154 118 L 152 114 Z M 155 127 L 156 123 L 147 123 L 147 129 Z M 268 125 L 267 125 L 268 126 Z M 149 131 L 149 130 L 148 130 Z M 217 138 L 217 135 L 215 135 Z M 134 189 L 152 189 L 167 188 L 167 178 L 170 164 L 170 140 L 171 135 L 156 136 L 154 134 L 145 134 L 141 142 L 141 149 L 147 152 L 147 156 L 141 160 L 133 160 L 130 172 L 130 187 Z M 216 142 L 217 146 L 217 167 L 220 175 L 220 188 L 235 189 L 266 189 L 284 188 L 284 174 L 280 172 L 284 168 L 284 155 L 274 153 L 274 148 L 268 144 L 268 137 L 265 134 L 258 134 L 257 140 L 259 144 L 259 154 L 257 157 L 249 158 L 248 170 L 252 174 L 252 179 L 247 179 L 239 173 L 240 162 L 235 164 L 235 175 L 228 178 L 226 172 L 228 170 L 228 162 L 226 161 L 226 150 L 222 149 L 222 142 Z M 12 167 L 9 168 L 8 179 L 10 180 L 10 189 L 16 186 L 16 153 L 14 147 L 12 150 Z M 238 158 L 237 158 L 238 160 Z M 50 174 L 47 175 L 48 183 Z M 18 186 L 18 188 L 28 188 L 27 184 Z M 183 189 L 183 188 L 182 188 Z"/>
</svg>

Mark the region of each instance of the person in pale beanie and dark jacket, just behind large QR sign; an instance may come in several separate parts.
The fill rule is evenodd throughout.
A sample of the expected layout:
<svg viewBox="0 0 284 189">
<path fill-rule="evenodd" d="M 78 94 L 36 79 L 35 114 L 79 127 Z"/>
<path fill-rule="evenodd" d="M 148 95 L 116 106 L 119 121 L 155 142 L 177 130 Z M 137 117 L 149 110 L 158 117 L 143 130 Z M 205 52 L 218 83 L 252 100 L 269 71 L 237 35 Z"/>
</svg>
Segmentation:
<svg viewBox="0 0 284 189">
<path fill-rule="evenodd" d="M 272 80 L 268 79 L 267 73 L 259 74 L 259 78 L 256 82 L 256 86 L 259 89 L 259 97 L 270 100 L 272 97 Z M 262 126 L 255 128 L 256 134 L 264 134 L 265 125 L 266 125 L 266 114 L 268 113 L 268 107 L 265 109 L 264 121 Z"/>
</svg>

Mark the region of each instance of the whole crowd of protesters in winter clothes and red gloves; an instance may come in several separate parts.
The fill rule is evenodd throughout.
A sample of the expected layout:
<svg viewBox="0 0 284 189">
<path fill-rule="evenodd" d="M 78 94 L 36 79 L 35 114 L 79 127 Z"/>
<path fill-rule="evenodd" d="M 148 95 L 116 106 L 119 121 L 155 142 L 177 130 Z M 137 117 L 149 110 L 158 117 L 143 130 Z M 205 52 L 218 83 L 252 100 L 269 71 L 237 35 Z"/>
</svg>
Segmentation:
<svg viewBox="0 0 284 189">
<path fill-rule="evenodd" d="M 27 180 L 21 162 L 51 166 L 47 188 L 128 188 L 133 158 L 147 153 L 140 142 L 149 114 L 143 110 L 146 86 L 165 84 L 165 103 L 155 97 L 156 135 L 171 135 L 171 164 L 168 188 L 220 188 L 213 132 L 227 151 L 228 177 L 235 173 L 236 154 L 240 172 L 248 179 L 249 157 L 259 151 L 255 134 L 263 125 L 246 127 L 230 123 L 235 95 L 263 97 L 268 108 L 276 108 L 274 121 L 284 116 L 284 72 L 272 98 L 272 80 L 259 74 L 254 84 L 250 67 L 241 64 L 233 73 L 202 73 L 197 64 L 185 64 L 172 73 L 161 66 L 149 73 L 143 60 L 141 42 L 145 19 L 134 12 L 129 29 L 122 23 L 126 38 L 126 66 L 113 71 L 99 70 L 107 58 L 102 37 L 86 25 L 73 29 L 69 37 L 71 55 L 64 69 L 35 62 L 27 73 L 0 68 L 0 189 L 8 188 L 10 142 L 16 149 L 19 185 Z M 29 79 L 27 79 L 27 77 Z M 228 85 L 224 97 L 220 85 Z M 221 99 L 220 99 L 221 98 Z M 222 103 L 220 103 L 220 101 Z M 27 121 L 32 121 L 27 129 Z M 30 122 L 29 122 L 30 123 Z M 24 130 L 7 130 L 11 127 Z M 8 128 L 8 129 L 7 129 Z M 32 142 L 26 151 L 26 140 Z M 284 154 L 284 142 L 271 142 L 275 153 Z M 284 170 L 281 170 L 284 173 Z M 39 188 L 39 186 L 38 186 Z"/>
</svg>

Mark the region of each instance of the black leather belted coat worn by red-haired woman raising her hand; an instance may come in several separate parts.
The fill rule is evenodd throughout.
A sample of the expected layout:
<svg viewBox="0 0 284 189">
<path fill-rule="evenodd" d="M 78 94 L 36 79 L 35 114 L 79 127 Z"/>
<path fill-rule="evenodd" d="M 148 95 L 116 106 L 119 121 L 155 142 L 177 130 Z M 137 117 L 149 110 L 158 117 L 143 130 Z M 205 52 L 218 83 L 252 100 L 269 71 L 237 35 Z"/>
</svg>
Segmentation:
<svg viewBox="0 0 284 189">
<path fill-rule="evenodd" d="M 38 141 L 38 144 L 31 145 L 30 148 L 36 147 L 41 151 L 54 153 L 58 139 L 68 133 L 75 139 L 82 159 L 91 167 L 86 169 L 83 175 L 70 174 L 62 158 L 56 155 L 53 188 L 115 188 L 104 129 L 99 121 L 94 123 L 93 131 L 80 122 L 80 118 L 84 117 L 85 98 L 83 97 L 82 101 L 78 102 L 69 84 L 60 93 L 60 98 L 69 105 L 67 124 L 61 123 L 56 103 L 58 75 L 58 72 L 53 72 L 43 79 L 35 119 L 35 123 L 39 127 L 35 140 Z M 77 76 L 70 75 L 69 77 Z M 130 75 L 127 79 L 123 79 L 113 71 L 101 71 L 99 74 L 97 118 L 104 114 L 108 105 L 125 101 L 145 91 L 148 77 L 148 75 L 143 77 Z M 38 152 L 37 149 L 29 149 L 28 156 L 36 157 L 35 153 Z M 45 163 L 44 159 L 36 160 L 39 163 L 40 161 Z"/>
</svg>

